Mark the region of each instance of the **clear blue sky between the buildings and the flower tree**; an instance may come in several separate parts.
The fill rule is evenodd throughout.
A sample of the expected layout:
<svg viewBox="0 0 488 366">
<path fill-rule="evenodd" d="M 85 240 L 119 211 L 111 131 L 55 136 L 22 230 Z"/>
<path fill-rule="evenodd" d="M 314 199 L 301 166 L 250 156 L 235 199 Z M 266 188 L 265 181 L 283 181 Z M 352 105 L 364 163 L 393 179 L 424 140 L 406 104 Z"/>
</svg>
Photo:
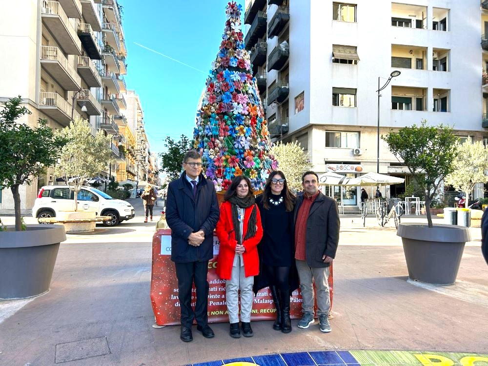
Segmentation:
<svg viewBox="0 0 488 366">
<path fill-rule="evenodd" d="M 229 1 L 118 1 L 123 6 L 127 88 L 141 98 L 151 151 L 162 152 L 166 136 L 193 134 L 197 103 L 219 51 Z M 244 0 L 237 3 L 244 19 Z"/>
</svg>

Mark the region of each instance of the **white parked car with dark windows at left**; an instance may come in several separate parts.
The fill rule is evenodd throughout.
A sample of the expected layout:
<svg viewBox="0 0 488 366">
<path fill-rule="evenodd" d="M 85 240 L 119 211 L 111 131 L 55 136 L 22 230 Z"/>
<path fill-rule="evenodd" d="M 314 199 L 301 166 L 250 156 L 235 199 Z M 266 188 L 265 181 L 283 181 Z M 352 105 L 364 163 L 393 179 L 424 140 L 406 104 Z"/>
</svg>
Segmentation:
<svg viewBox="0 0 488 366">
<path fill-rule="evenodd" d="M 59 211 L 74 211 L 73 197 L 74 192 L 66 185 L 44 185 L 34 202 L 32 216 L 39 220 L 56 217 Z M 77 200 L 80 211 L 95 211 L 98 216 L 110 216 L 110 220 L 103 221 L 105 226 L 116 226 L 135 216 L 134 207 L 130 203 L 116 200 L 93 187 L 82 186 Z"/>
</svg>

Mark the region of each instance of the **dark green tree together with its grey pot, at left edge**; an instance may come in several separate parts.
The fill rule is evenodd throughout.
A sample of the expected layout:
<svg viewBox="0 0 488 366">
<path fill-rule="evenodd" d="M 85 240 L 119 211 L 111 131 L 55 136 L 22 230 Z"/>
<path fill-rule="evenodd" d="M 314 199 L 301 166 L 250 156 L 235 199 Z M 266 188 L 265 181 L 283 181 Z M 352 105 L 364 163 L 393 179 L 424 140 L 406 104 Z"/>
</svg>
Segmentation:
<svg viewBox="0 0 488 366">
<path fill-rule="evenodd" d="M 0 232 L 0 298 L 36 296 L 49 290 L 61 242 L 59 225 L 25 225 L 22 230 L 19 187 L 31 184 L 60 155 L 65 138 L 54 135 L 47 121 L 31 127 L 18 120 L 31 112 L 21 97 L 2 103 L 0 111 L 0 186 L 14 198 L 15 227 Z M 6 230 L 5 230 L 6 229 Z"/>
</svg>

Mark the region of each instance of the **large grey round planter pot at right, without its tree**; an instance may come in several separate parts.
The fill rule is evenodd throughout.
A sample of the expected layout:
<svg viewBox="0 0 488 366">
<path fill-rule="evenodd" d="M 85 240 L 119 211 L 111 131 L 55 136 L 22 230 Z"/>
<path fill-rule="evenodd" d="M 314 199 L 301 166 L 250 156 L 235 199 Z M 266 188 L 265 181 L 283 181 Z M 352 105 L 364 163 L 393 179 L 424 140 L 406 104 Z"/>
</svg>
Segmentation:
<svg viewBox="0 0 488 366">
<path fill-rule="evenodd" d="M 456 282 L 464 245 L 471 241 L 468 227 L 405 223 L 398 225 L 397 235 L 402 238 L 408 277 L 435 285 Z"/>
</svg>

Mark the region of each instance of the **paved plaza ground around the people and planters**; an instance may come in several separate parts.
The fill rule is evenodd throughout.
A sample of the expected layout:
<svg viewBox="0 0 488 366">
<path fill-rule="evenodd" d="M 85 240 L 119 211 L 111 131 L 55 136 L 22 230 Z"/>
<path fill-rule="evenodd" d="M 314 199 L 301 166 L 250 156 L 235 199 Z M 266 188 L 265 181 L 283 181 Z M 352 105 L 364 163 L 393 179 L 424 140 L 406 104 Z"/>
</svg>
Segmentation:
<svg viewBox="0 0 488 366">
<path fill-rule="evenodd" d="M 471 228 L 456 285 L 430 286 L 407 281 L 394 228 L 380 228 L 372 217 L 363 228 L 358 215 L 343 216 L 331 333 L 316 324 L 299 329 L 293 320 L 293 331 L 282 334 L 262 321 L 252 324 L 254 337 L 232 339 L 221 323 L 212 325 L 215 338 L 194 327 L 193 342 L 183 343 L 179 326 L 152 327 L 155 222 L 144 224 L 140 200 L 130 201 L 133 220 L 67 235 L 48 293 L 0 301 L 0 365 L 224 365 L 236 359 L 262 366 L 488 365 L 488 359 L 444 353 L 488 357 L 488 266 L 479 228 Z"/>
</svg>

